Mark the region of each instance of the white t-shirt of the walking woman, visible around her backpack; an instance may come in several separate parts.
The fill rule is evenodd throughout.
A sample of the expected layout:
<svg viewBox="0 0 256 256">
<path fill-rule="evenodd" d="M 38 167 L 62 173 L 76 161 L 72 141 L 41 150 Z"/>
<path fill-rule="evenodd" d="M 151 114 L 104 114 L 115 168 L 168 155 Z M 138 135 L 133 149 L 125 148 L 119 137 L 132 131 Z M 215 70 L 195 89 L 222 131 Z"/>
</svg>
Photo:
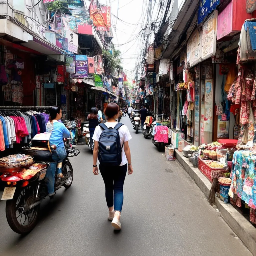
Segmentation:
<svg viewBox="0 0 256 256">
<path fill-rule="evenodd" d="M 118 123 L 109 123 L 109 122 L 106 122 L 105 125 L 109 128 L 109 127 L 112 127 L 114 128 Z M 100 139 L 100 135 L 102 133 L 103 129 L 98 125 L 96 126 L 95 128 L 95 131 L 94 131 L 94 134 L 92 136 L 92 139 L 94 141 L 99 141 Z M 123 145 L 124 142 L 126 141 L 129 141 L 131 140 L 132 136 L 127 128 L 126 125 L 122 125 L 119 129 L 118 129 L 118 132 L 119 132 L 119 136 L 120 136 L 120 142 L 121 142 L 121 147 Z M 125 165 L 127 164 L 127 159 L 126 159 L 126 156 L 125 156 L 125 153 L 124 153 L 124 150 L 122 149 L 122 162 L 120 164 L 120 166 L 122 165 Z"/>
</svg>

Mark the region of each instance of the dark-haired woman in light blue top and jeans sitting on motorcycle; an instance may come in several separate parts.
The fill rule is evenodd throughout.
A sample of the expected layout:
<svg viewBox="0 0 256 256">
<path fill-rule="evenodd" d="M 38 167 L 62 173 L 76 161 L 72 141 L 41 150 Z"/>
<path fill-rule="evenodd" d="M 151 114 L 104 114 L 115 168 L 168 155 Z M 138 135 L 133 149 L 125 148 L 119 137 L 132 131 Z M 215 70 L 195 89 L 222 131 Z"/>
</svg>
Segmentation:
<svg viewBox="0 0 256 256">
<path fill-rule="evenodd" d="M 46 124 L 46 131 L 51 132 L 49 141 L 50 146 L 56 145 L 57 148 L 55 152 L 52 152 L 52 160 L 54 162 L 50 163 L 50 166 L 46 172 L 46 177 L 48 178 L 48 194 L 50 198 L 53 198 L 53 196 L 55 195 L 54 183 L 56 172 L 58 177 L 64 178 L 63 174 L 61 173 L 61 169 L 62 161 L 67 156 L 67 152 L 64 146 L 63 137 L 70 137 L 70 132 L 67 127 L 63 123 L 58 122 L 61 117 L 61 108 L 59 106 L 52 106 L 52 108 L 50 109 L 50 118 L 48 123 Z"/>
</svg>

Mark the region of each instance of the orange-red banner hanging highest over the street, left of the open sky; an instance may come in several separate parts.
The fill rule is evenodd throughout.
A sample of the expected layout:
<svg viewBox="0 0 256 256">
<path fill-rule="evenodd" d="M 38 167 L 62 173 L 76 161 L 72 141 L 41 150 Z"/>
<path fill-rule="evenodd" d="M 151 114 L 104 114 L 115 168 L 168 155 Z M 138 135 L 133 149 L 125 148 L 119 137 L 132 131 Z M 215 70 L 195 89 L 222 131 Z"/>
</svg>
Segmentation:
<svg viewBox="0 0 256 256">
<path fill-rule="evenodd" d="M 93 20 L 93 24 L 97 30 L 109 31 L 111 27 L 111 10 L 110 6 L 101 6 L 97 8 L 97 5 L 92 1 L 90 4 L 90 16 Z"/>
</svg>

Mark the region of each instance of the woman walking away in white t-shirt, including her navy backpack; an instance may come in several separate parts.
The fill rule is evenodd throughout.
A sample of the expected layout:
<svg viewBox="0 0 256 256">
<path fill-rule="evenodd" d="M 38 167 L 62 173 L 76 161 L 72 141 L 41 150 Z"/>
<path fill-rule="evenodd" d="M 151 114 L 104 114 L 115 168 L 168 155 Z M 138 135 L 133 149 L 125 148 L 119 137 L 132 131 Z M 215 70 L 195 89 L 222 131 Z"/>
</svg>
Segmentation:
<svg viewBox="0 0 256 256">
<path fill-rule="evenodd" d="M 127 172 L 133 173 L 129 140 L 132 136 L 127 126 L 117 123 L 119 106 L 109 103 L 105 109 L 108 122 L 99 124 L 94 131 L 93 174 L 98 175 L 99 169 L 105 183 L 105 196 L 109 208 L 108 219 L 112 220 L 115 229 L 121 229 L 120 215 L 123 206 L 123 185 Z"/>
</svg>

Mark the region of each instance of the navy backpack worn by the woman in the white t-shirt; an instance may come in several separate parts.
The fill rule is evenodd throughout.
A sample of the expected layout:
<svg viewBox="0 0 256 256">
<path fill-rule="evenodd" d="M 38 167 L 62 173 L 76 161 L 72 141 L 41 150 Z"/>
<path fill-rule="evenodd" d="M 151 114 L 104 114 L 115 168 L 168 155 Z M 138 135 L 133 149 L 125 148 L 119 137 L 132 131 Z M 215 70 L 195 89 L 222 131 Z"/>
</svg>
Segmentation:
<svg viewBox="0 0 256 256">
<path fill-rule="evenodd" d="M 118 129 L 122 126 L 118 123 L 114 128 L 99 124 L 103 129 L 99 138 L 98 159 L 100 165 L 119 166 L 122 162 L 122 148 Z"/>
</svg>

